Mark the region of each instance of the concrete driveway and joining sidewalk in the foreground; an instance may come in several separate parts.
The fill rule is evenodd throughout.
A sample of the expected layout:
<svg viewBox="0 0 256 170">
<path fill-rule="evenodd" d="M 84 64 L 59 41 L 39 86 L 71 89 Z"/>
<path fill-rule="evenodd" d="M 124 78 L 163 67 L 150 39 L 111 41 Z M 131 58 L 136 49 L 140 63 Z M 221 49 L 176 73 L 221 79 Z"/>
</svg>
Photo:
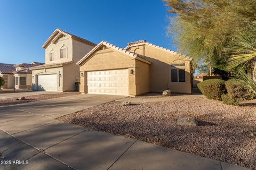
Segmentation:
<svg viewBox="0 0 256 170">
<path fill-rule="evenodd" d="M 120 98 L 86 94 L 0 108 L 0 160 L 9 163 L 0 169 L 245 169 L 54 119 Z"/>
</svg>

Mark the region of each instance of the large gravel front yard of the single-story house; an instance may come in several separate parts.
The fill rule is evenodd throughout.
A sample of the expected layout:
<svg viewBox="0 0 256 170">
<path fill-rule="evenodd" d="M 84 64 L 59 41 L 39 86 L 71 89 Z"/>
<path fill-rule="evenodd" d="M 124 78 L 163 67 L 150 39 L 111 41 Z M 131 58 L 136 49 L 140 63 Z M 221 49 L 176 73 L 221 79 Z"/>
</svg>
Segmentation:
<svg viewBox="0 0 256 170">
<path fill-rule="evenodd" d="M 256 169 L 256 100 L 243 106 L 204 97 L 121 104 L 114 101 L 58 120 Z M 196 117 L 198 126 L 177 125 L 181 114 Z"/>
</svg>

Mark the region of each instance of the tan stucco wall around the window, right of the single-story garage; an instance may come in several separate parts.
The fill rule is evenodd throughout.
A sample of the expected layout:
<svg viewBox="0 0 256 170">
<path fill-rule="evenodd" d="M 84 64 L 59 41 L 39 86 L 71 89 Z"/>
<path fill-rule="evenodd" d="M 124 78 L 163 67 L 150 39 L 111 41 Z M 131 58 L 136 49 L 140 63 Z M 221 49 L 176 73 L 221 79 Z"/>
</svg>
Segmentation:
<svg viewBox="0 0 256 170">
<path fill-rule="evenodd" d="M 171 54 L 148 45 L 128 48 L 131 52 L 145 55 L 151 61 L 150 91 L 162 92 L 169 88 L 172 92 L 191 93 L 190 61 L 178 54 Z M 171 82 L 171 64 L 185 63 L 186 82 Z"/>
</svg>

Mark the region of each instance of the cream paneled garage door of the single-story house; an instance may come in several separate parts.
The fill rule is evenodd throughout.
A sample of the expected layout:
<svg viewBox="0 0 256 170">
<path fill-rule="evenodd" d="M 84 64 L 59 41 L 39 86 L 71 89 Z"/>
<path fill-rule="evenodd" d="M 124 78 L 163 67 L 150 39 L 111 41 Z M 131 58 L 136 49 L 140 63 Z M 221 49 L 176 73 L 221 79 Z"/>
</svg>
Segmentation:
<svg viewBox="0 0 256 170">
<path fill-rule="evenodd" d="M 89 94 L 128 95 L 128 69 L 87 72 Z"/>
</svg>

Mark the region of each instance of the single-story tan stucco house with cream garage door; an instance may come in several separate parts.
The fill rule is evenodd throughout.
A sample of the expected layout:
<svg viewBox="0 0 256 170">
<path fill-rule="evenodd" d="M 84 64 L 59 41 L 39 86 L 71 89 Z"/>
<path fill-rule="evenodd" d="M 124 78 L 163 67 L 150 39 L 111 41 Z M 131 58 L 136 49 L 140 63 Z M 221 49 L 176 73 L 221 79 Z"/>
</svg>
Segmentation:
<svg viewBox="0 0 256 170">
<path fill-rule="evenodd" d="M 137 96 L 146 92 L 190 94 L 193 60 L 146 40 L 120 48 L 101 41 L 82 60 L 80 91 Z"/>
</svg>

